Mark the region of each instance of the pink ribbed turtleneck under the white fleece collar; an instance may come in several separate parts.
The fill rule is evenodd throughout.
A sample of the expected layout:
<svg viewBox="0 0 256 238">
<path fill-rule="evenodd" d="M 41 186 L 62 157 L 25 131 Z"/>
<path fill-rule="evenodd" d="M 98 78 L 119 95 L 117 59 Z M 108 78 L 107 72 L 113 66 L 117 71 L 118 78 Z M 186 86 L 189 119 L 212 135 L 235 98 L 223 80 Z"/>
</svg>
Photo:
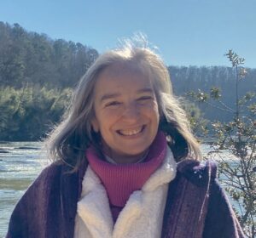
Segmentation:
<svg viewBox="0 0 256 238">
<path fill-rule="evenodd" d="M 157 134 L 149 148 L 148 156 L 141 163 L 112 164 L 101 160 L 94 147 L 91 146 L 86 150 L 90 167 L 102 180 L 107 190 L 114 221 L 125 207 L 131 193 L 142 189 L 150 175 L 160 167 L 165 156 L 166 137 L 164 133 Z"/>
</svg>

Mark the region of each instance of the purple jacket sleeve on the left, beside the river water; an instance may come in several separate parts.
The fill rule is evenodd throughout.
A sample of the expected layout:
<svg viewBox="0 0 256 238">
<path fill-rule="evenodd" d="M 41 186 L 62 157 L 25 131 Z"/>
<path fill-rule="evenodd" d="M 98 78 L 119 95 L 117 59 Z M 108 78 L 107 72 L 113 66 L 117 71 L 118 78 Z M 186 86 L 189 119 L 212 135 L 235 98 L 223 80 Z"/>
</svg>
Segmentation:
<svg viewBox="0 0 256 238">
<path fill-rule="evenodd" d="M 44 237 L 48 197 L 56 188 L 57 167 L 44 169 L 15 206 L 6 238 Z"/>
</svg>

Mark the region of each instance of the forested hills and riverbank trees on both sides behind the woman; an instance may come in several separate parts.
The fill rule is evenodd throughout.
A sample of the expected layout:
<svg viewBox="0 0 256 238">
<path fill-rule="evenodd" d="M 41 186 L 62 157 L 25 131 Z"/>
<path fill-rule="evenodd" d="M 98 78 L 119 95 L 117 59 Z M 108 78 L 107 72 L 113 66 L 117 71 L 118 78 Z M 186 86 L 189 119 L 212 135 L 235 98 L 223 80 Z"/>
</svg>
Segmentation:
<svg viewBox="0 0 256 238">
<path fill-rule="evenodd" d="M 19 24 L 0 22 L 0 140 L 44 138 L 60 122 L 73 88 L 98 55 L 95 48 L 79 42 L 54 40 Z M 191 105 L 189 92 L 212 87 L 220 88 L 224 104 L 234 107 L 236 72 L 232 67 L 168 65 L 168 70 L 174 94 L 183 97 L 185 109 Z M 246 71 L 240 96 L 256 91 L 256 69 Z M 203 115 L 209 122 L 225 122 L 232 116 L 206 104 L 192 105 L 189 114 Z"/>
</svg>

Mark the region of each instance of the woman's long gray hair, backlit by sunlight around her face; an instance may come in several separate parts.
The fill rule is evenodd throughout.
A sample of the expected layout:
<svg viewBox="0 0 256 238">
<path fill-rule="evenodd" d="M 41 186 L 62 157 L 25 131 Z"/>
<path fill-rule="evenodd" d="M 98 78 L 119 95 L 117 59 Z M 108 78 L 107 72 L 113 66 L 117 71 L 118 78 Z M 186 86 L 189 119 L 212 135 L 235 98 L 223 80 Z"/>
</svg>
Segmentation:
<svg viewBox="0 0 256 238">
<path fill-rule="evenodd" d="M 152 79 L 160 111 L 159 129 L 166 133 L 176 160 L 180 161 L 186 156 L 200 160 L 199 144 L 190 131 L 185 112 L 172 94 L 171 79 L 162 59 L 148 47 L 137 47 L 131 43 L 100 55 L 81 78 L 62 122 L 46 139 L 49 158 L 67 163 L 74 171 L 81 161 L 86 160 L 86 148 L 90 144 L 97 144 L 99 140 L 91 128 L 96 80 L 104 69 L 117 62 L 135 63 Z"/>
</svg>

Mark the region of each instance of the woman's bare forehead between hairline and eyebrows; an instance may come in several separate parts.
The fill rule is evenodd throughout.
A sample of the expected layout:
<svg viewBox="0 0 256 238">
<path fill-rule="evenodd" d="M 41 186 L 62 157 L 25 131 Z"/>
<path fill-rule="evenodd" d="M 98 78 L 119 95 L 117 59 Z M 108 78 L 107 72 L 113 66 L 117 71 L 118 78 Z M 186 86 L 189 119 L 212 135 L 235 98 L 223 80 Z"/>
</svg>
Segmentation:
<svg viewBox="0 0 256 238">
<path fill-rule="evenodd" d="M 137 90 L 152 88 L 152 79 L 146 69 L 135 63 L 116 63 L 104 69 L 96 79 L 95 94 L 108 91 Z"/>
</svg>

